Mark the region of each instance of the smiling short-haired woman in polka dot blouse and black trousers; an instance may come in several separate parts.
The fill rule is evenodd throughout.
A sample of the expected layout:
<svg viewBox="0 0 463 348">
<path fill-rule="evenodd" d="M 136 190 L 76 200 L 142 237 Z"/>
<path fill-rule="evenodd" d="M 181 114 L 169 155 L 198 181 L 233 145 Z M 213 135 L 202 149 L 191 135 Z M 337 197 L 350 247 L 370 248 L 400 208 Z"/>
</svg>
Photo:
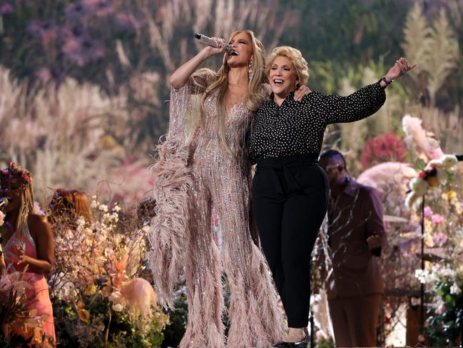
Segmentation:
<svg viewBox="0 0 463 348">
<path fill-rule="evenodd" d="M 317 160 L 325 127 L 374 114 L 385 102 L 385 87 L 413 67 L 401 58 L 380 81 L 350 96 L 312 92 L 295 103 L 292 94 L 308 79 L 307 61 L 288 46 L 275 48 L 268 60 L 273 93 L 255 114 L 250 157 L 258 164 L 252 193 L 260 241 L 290 328 L 277 347 L 307 345 L 310 253 L 329 197 Z"/>
</svg>

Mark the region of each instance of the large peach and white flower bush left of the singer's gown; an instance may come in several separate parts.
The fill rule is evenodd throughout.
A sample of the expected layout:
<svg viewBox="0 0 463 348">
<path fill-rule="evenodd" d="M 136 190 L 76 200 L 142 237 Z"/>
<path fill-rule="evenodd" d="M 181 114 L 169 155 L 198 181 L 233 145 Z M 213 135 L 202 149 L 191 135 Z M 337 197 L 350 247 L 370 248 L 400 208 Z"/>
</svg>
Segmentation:
<svg viewBox="0 0 463 348">
<path fill-rule="evenodd" d="M 75 229 L 54 226 L 49 284 L 57 340 L 81 347 L 161 347 L 169 318 L 156 306 L 151 284 L 127 272 L 133 235 L 121 227 L 121 208 L 93 197 L 91 210 L 92 221 L 79 218 Z"/>
</svg>

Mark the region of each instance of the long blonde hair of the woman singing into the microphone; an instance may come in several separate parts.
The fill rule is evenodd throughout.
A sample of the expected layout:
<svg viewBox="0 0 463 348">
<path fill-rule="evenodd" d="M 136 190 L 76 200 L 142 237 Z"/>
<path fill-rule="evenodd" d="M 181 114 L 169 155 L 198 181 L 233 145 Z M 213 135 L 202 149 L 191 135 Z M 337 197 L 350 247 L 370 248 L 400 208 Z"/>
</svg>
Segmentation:
<svg viewBox="0 0 463 348">
<path fill-rule="evenodd" d="M 265 100 L 265 92 L 263 91 L 262 84 L 265 81 L 265 49 L 258 39 L 255 38 L 252 30 L 237 30 L 230 34 L 228 41 L 240 33 L 246 33 L 250 36 L 251 44 L 253 45 L 253 58 L 252 68 L 248 81 L 248 91 L 245 96 L 245 105 L 251 111 L 256 111 L 259 105 Z M 231 154 L 225 140 L 225 119 L 227 116 L 227 110 L 225 105 L 225 97 L 228 90 L 228 71 L 229 66 L 227 64 L 227 55 L 223 55 L 222 66 L 215 74 L 215 80 L 205 90 L 202 102 L 201 102 L 201 121 L 204 115 L 204 101 L 205 99 L 217 92 L 217 126 L 218 126 L 218 137 L 220 145 L 222 145 L 228 153 Z M 193 121 L 189 126 L 192 129 L 196 129 L 198 122 Z"/>
</svg>

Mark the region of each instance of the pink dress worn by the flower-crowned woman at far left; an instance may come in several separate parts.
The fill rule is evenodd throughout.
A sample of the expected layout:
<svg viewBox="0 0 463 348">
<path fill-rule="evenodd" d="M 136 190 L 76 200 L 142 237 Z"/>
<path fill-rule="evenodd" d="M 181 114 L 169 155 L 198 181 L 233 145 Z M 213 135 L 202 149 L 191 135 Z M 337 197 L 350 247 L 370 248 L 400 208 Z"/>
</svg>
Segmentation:
<svg viewBox="0 0 463 348">
<path fill-rule="evenodd" d="M 17 263 L 19 258 L 16 246 L 25 250 L 25 254 L 29 257 L 37 258 L 36 243 L 29 232 L 27 224 L 18 227 L 4 246 L 5 263 L 8 272 L 23 272 L 24 267 L 26 267 L 24 264 Z M 28 299 L 26 309 L 36 309 L 37 316 L 43 314 L 48 316 L 44 323 L 44 334 L 56 342 L 53 307 L 51 307 L 49 285 L 46 282 L 44 274 L 26 271 L 24 280 L 31 284 L 31 288 L 26 292 Z"/>
</svg>

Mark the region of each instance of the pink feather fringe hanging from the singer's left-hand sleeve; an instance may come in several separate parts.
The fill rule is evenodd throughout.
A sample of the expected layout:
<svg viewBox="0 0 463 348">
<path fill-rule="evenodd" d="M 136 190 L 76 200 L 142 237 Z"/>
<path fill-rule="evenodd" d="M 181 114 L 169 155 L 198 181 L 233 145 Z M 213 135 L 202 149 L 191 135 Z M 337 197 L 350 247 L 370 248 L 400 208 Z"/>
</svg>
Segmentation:
<svg viewBox="0 0 463 348">
<path fill-rule="evenodd" d="M 173 292 L 183 270 L 185 234 L 189 219 L 188 191 L 192 186 L 186 165 L 187 149 L 169 139 L 157 146 L 159 160 L 152 166 L 156 177 L 156 217 L 151 221 L 147 259 L 159 304 L 174 308 Z"/>
</svg>

